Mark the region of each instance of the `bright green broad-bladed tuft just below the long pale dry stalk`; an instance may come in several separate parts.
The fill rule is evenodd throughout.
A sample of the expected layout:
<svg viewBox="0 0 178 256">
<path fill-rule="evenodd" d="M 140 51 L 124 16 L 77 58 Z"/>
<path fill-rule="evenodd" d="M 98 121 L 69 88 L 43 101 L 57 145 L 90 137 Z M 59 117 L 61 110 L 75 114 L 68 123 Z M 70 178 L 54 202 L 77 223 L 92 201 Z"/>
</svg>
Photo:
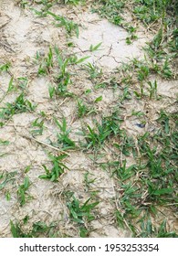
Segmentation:
<svg viewBox="0 0 178 256">
<path fill-rule="evenodd" d="M 53 167 L 51 170 L 48 170 L 47 166 L 43 165 L 46 174 L 39 176 L 39 178 L 49 179 L 54 182 L 58 181 L 58 177 L 65 172 L 65 169 L 68 169 L 68 167 L 62 163 L 62 160 L 66 158 L 66 156 L 67 155 L 48 155 Z"/>
</svg>

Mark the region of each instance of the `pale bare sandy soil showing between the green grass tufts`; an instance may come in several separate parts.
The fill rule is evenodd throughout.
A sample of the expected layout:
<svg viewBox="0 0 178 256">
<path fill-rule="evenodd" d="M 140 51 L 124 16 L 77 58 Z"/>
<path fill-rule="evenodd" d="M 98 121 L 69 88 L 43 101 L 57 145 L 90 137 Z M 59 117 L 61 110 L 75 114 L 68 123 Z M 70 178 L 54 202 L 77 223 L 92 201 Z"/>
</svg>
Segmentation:
<svg viewBox="0 0 178 256">
<path fill-rule="evenodd" d="M 99 207 L 96 209 L 97 219 L 90 223 L 92 231 L 90 237 L 130 237 L 130 230 L 118 228 L 113 219 L 114 204 L 116 197 L 114 181 L 110 178 L 110 173 L 104 172 L 100 167 L 93 165 L 89 154 L 82 151 L 69 151 L 66 165 L 69 171 L 63 174 L 58 183 L 39 179 L 38 176 L 44 174 L 42 165 L 50 166 L 47 152 L 57 152 L 47 147 L 49 140 L 55 141 L 58 129 L 53 122 L 52 116 L 61 120 L 65 116 L 69 127 L 71 127 L 71 138 L 77 143 L 79 135 L 76 132 L 82 127 L 82 123 L 76 119 L 76 101 L 70 98 L 50 100 L 48 96 L 48 85 L 51 83 L 48 77 L 37 76 L 37 65 L 35 56 L 37 51 L 41 55 L 48 52 L 49 46 L 57 46 L 62 50 L 67 49 L 67 42 L 73 41 L 79 57 L 90 56 L 86 61 L 96 64 L 103 70 L 104 76 L 108 78 L 114 70 L 120 66 L 122 61 L 139 59 L 143 57 L 141 49 L 148 40 L 143 31 L 138 33 L 139 39 L 131 46 L 125 43 L 127 33 L 123 28 L 111 25 L 107 20 L 100 19 L 98 15 L 91 14 L 86 7 L 74 7 L 74 10 L 55 7 L 56 13 L 65 14 L 70 18 L 75 17 L 75 22 L 79 23 L 79 38 L 68 37 L 62 27 L 54 27 L 53 18 L 37 17 L 28 8 L 22 9 L 15 5 L 15 1 L 0 0 L 0 64 L 6 60 L 12 63 L 10 72 L 0 74 L 0 106 L 5 106 L 5 102 L 13 102 L 18 95 L 18 91 L 13 91 L 5 95 L 9 80 L 14 77 L 14 82 L 18 78 L 27 78 L 26 99 L 37 104 L 35 112 L 18 113 L 12 117 L 5 126 L 0 129 L 0 139 L 10 142 L 8 146 L 0 145 L 0 172 L 16 172 L 13 182 L 9 182 L 3 190 L 0 190 L 0 236 L 11 237 L 9 221 L 21 220 L 28 215 L 30 217 L 28 228 L 35 221 L 41 220 L 47 223 L 51 221 L 59 222 L 58 230 L 60 236 L 79 236 L 79 231 L 69 221 L 68 208 L 62 199 L 64 190 L 71 190 L 76 197 L 85 201 L 89 198 L 89 192 L 85 190 L 84 175 L 89 172 L 96 181 L 91 185 L 91 190 L 99 190 Z M 79 8 L 79 9 L 78 9 Z M 78 15 L 77 15 L 78 13 Z M 109 36 L 110 35 L 110 36 Z M 90 53 L 89 46 L 99 44 L 100 50 Z M 154 79 L 154 78 L 152 78 Z M 122 124 L 128 133 L 137 135 L 156 129 L 154 120 L 157 111 L 162 106 L 170 106 L 175 101 L 175 87 L 177 81 L 158 80 L 158 93 L 165 97 L 159 103 L 152 101 L 128 101 L 125 105 L 125 119 Z M 86 78 L 85 72 L 74 76 L 71 91 L 83 95 L 83 91 L 92 88 L 90 80 Z M 117 101 L 117 93 L 109 89 L 94 91 L 86 96 L 87 101 L 93 101 L 102 93 L 102 101 L 98 103 L 98 111 L 102 113 L 110 112 L 111 106 Z M 119 93 L 119 91 L 118 91 Z M 85 97 L 85 96 L 84 96 Z M 84 98 L 85 99 L 85 98 Z M 166 104 L 166 105 L 165 105 Z M 135 125 L 137 118 L 131 116 L 131 110 L 148 110 L 147 124 L 144 129 Z M 31 136 L 31 123 L 37 119 L 39 112 L 46 112 L 46 129 L 42 135 L 36 139 L 44 144 L 38 143 Z M 91 118 L 86 118 L 86 123 L 91 123 Z M 110 149 L 104 152 L 104 159 L 110 158 Z M 30 165 L 27 173 L 32 185 L 28 189 L 28 194 L 32 197 L 26 205 L 21 208 L 17 201 L 16 190 L 22 184 L 26 176 L 26 166 Z M 11 199 L 5 198 L 5 193 L 10 191 Z"/>
</svg>

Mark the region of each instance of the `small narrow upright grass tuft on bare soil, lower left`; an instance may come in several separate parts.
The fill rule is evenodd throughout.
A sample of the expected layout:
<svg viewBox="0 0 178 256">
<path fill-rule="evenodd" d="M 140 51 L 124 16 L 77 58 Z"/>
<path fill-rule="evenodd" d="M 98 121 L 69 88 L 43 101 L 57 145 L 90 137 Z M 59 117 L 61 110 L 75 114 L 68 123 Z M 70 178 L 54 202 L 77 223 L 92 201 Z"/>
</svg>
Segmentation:
<svg viewBox="0 0 178 256">
<path fill-rule="evenodd" d="M 23 207 L 26 204 L 26 190 L 30 187 L 31 183 L 28 177 L 25 177 L 24 183 L 18 187 L 17 197 L 20 206 Z M 29 199 L 29 196 L 27 197 Z"/>
</svg>

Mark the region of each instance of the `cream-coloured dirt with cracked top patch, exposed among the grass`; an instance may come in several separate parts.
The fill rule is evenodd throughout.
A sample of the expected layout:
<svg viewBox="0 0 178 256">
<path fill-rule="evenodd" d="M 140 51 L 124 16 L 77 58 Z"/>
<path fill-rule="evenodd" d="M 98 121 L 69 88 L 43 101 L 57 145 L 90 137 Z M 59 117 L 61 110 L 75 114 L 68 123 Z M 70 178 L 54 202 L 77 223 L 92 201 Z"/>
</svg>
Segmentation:
<svg viewBox="0 0 178 256">
<path fill-rule="evenodd" d="M 120 228 L 114 217 L 118 191 L 122 188 L 108 169 L 101 168 L 102 164 L 111 162 L 113 155 L 115 157 L 112 145 L 110 147 L 112 142 L 109 148 L 102 149 L 100 155 L 95 155 L 90 149 L 80 148 L 80 144 L 86 144 L 81 133 L 86 123 L 95 127 L 93 120 L 100 122 L 118 106 L 121 111 L 124 110 L 121 114 L 123 122 L 120 129 L 124 128 L 135 140 L 137 135 L 157 131 L 158 111 L 168 108 L 175 101 L 177 81 L 156 78 L 157 93 L 162 96 L 161 101 L 148 101 L 148 98 L 143 98 L 142 101 L 134 99 L 125 101 L 124 106 L 120 106 L 122 88 L 115 88 L 110 79 L 116 74 L 114 82 L 118 86 L 117 68 L 128 59 L 143 58 L 142 47 L 150 36 L 145 37 L 143 32 L 140 32 L 138 40 L 127 45 L 125 39 L 128 33 L 125 29 L 110 24 L 108 20 L 101 19 L 96 14 L 91 14 L 89 9 L 86 10 L 84 7 L 81 7 L 80 11 L 74 7 L 74 12 L 70 12 L 68 6 L 60 8 L 59 5 L 55 5 L 56 13 L 60 15 L 76 17 L 76 12 L 79 11 L 76 17 L 76 22 L 81 25 L 79 38 L 69 37 L 64 27 L 53 25 L 54 19 L 51 16 L 36 16 L 28 7 L 23 9 L 13 1 L 0 1 L 0 7 L 0 66 L 6 61 L 11 63 L 11 68 L 7 72 L 3 70 L 0 73 L 0 107 L 4 109 L 5 103 L 16 101 L 20 93 L 24 93 L 26 100 L 36 105 L 35 111 L 18 112 L 10 116 L 0 128 L 0 140 L 9 142 L 8 145 L 0 144 L 0 172 L 5 175 L 12 175 L 14 172 L 13 178 L 0 190 L 0 236 L 11 237 L 10 220 L 22 221 L 26 216 L 30 219 L 25 228 L 26 232 L 31 229 L 33 223 L 44 221 L 47 224 L 57 223 L 58 236 L 79 236 L 78 227 L 70 221 L 68 200 L 64 200 L 68 191 L 72 191 L 81 202 L 85 202 L 89 197 L 95 201 L 99 200 L 99 206 L 94 209 L 94 215 L 97 217 L 89 222 L 89 227 L 85 227 L 91 230 L 89 237 L 131 237 L 128 225 Z M 73 43 L 73 48 L 68 48 L 69 42 Z M 90 46 L 94 47 L 100 42 L 99 49 L 92 51 Z M 39 59 L 47 58 L 49 47 L 59 48 L 67 57 L 71 53 L 76 53 L 78 58 L 90 56 L 84 63 L 90 62 L 99 67 L 99 70 L 103 69 L 101 78 L 94 73 L 99 80 L 92 80 L 85 66 L 79 65 L 72 69 L 71 64 L 68 67 L 72 73 L 69 90 L 77 96 L 57 96 L 50 99 L 49 87 L 55 84 L 58 72 L 53 76 L 52 71 L 48 69 L 47 74 L 40 75 L 37 62 L 37 54 Z M 90 76 L 93 75 L 91 71 Z M 6 93 L 12 78 L 15 88 Z M 23 83 L 24 88 L 22 84 L 19 86 L 19 81 L 26 81 Z M 90 107 L 94 105 L 95 112 L 79 119 L 78 97 Z M 131 114 L 133 110 L 147 112 L 144 116 L 144 125 L 141 126 L 141 119 L 138 116 Z M 68 129 L 71 130 L 68 132 L 69 137 L 77 144 L 76 149 L 68 149 L 65 162 L 68 170 L 65 170 L 56 183 L 38 177 L 44 175 L 44 165 L 52 168 L 48 154 L 61 154 L 60 148 L 56 145 L 59 129 L 53 117 L 59 122 L 66 118 Z M 43 133 L 37 132 L 34 136 L 32 131 L 39 129 L 39 126 L 33 126 L 37 119 L 44 122 L 44 129 Z M 29 166 L 28 171 L 26 166 Z M 31 183 L 27 191 L 29 200 L 21 207 L 17 190 L 26 176 Z M 7 195 L 10 195 L 9 199 Z"/>
</svg>

